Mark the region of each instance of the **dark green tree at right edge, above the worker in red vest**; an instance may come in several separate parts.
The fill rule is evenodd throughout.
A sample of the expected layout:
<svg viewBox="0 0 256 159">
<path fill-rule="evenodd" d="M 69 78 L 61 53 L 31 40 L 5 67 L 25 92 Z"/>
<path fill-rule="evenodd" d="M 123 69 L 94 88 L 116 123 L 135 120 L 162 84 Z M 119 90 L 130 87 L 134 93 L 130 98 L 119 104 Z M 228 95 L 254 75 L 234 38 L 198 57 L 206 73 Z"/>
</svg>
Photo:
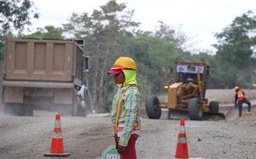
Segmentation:
<svg viewBox="0 0 256 159">
<path fill-rule="evenodd" d="M 222 32 L 215 34 L 218 39 L 218 44 L 215 45 L 218 49 L 216 58 L 221 64 L 220 70 L 230 79 L 228 84 L 231 86 L 237 85 L 239 76 L 244 78 L 246 72 L 251 74 L 250 81 L 254 80 L 255 33 L 256 16 L 252 11 L 248 11 L 236 17 Z M 240 80 L 239 84 L 245 85 L 245 81 Z"/>
</svg>

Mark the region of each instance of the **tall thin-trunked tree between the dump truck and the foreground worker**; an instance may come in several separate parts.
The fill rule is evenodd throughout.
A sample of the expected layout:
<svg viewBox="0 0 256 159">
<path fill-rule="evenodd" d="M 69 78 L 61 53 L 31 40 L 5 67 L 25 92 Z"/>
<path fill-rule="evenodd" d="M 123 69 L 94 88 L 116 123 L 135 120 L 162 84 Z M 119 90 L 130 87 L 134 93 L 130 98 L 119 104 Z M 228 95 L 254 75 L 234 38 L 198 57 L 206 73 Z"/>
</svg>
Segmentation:
<svg viewBox="0 0 256 159">
<path fill-rule="evenodd" d="M 110 76 L 106 76 L 115 60 L 128 55 L 125 49 L 126 37 L 132 36 L 133 28 L 139 23 L 132 21 L 133 11 L 125 3 L 115 0 L 100 6 L 99 10 L 89 13 L 73 13 L 64 30 L 77 39 L 85 40 L 86 53 L 92 57 L 91 77 L 93 103 L 97 112 L 103 112 L 107 90 L 113 90 Z"/>
</svg>

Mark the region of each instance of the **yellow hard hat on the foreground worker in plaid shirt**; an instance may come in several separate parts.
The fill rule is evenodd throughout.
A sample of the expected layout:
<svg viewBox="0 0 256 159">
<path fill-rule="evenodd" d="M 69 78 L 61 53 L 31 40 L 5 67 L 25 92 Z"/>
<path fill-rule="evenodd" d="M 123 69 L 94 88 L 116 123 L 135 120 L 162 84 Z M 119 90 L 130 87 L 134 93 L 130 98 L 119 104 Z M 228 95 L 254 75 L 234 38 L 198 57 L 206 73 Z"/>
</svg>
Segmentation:
<svg viewBox="0 0 256 159">
<path fill-rule="evenodd" d="M 114 62 L 111 69 L 132 69 L 137 70 L 137 65 L 131 57 L 121 56 Z"/>
</svg>

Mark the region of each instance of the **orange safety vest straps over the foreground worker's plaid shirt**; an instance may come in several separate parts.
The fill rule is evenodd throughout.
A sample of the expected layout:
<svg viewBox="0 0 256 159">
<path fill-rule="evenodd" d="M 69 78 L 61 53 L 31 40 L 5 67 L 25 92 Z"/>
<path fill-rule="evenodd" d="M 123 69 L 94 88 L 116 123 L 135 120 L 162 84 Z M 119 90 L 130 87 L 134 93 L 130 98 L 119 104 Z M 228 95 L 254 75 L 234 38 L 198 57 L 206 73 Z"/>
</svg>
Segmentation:
<svg viewBox="0 0 256 159">
<path fill-rule="evenodd" d="M 125 92 L 126 92 L 128 89 L 131 89 L 131 88 L 137 89 L 137 86 L 132 86 L 132 85 L 130 85 L 130 86 L 120 95 L 120 98 L 118 99 L 118 102 L 117 102 L 116 122 L 115 122 L 115 124 L 114 124 L 114 131 L 115 131 L 115 132 L 123 132 L 123 130 L 124 130 L 124 127 L 119 127 L 119 126 L 118 126 L 118 120 L 119 120 L 119 117 L 120 117 L 121 106 L 122 106 L 122 99 L 123 99 L 123 97 L 124 97 L 124 94 L 125 94 Z M 139 110 L 139 114 L 140 114 L 140 110 Z M 139 118 L 139 115 L 138 115 L 138 118 Z M 140 124 L 140 120 L 138 119 L 138 125 L 134 126 L 132 130 L 133 130 L 133 131 L 138 131 L 138 130 L 140 130 L 140 127 L 141 127 L 141 124 Z"/>
</svg>

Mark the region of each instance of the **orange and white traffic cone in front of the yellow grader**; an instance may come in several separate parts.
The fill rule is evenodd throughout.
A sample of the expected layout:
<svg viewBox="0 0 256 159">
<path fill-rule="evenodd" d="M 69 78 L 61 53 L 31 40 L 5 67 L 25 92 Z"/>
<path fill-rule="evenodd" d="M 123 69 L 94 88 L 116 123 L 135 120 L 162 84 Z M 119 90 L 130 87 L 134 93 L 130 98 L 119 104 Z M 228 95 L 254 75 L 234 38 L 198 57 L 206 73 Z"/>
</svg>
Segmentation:
<svg viewBox="0 0 256 159">
<path fill-rule="evenodd" d="M 185 121 L 184 121 L 184 119 L 180 120 L 178 143 L 177 143 L 175 157 L 176 158 L 188 158 L 187 138 L 186 138 Z"/>
</svg>

